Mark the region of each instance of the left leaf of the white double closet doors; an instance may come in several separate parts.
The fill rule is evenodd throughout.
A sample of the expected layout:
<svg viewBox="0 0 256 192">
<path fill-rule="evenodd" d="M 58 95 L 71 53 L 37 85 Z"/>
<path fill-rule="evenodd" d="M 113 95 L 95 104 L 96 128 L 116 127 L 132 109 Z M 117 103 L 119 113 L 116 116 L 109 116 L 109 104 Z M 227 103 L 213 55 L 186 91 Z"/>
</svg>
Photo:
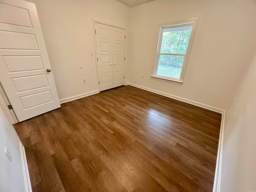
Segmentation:
<svg viewBox="0 0 256 192">
<path fill-rule="evenodd" d="M 99 91 L 113 88 L 112 27 L 95 23 Z"/>
</svg>

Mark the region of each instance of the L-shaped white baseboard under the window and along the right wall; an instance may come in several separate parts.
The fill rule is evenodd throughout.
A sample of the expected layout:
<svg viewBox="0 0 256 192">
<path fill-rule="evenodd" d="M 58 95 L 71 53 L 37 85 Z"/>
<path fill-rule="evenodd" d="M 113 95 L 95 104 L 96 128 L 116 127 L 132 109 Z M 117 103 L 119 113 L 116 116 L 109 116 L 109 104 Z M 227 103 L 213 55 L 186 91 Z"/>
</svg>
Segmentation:
<svg viewBox="0 0 256 192">
<path fill-rule="evenodd" d="M 188 104 L 192 104 L 192 105 L 195 105 L 195 106 L 198 106 L 198 107 L 208 109 L 208 110 L 211 110 L 211 111 L 218 112 L 218 113 L 222 114 L 221 126 L 220 126 L 220 137 L 219 137 L 219 144 L 218 144 L 218 153 L 217 153 L 217 161 L 216 161 L 216 169 L 215 169 L 215 176 L 214 176 L 214 185 L 213 185 L 213 190 L 212 190 L 213 192 L 220 192 L 225 110 L 220 109 L 220 108 L 216 108 L 216 107 L 213 107 L 213 106 L 209 106 L 209 105 L 206 105 L 206 104 L 202 104 L 202 103 L 199 103 L 199 102 L 195 102 L 195 101 L 192 101 L 192 100 L 188 100 L 188 99 L 185 99 L 185 98 L 181 98 L 181 97 L 178 97 L 178 96 L 174 96 L 174 95 L 164 93 L 164 92 L 161 92 L 161 91 L 158 91 L 158 90 L 150 89 L 150 88 L 140 86 L 140 85 L 137 85 L 137 84 L 133 84 L 133 83 L 130 83 L 130 82 L 125 83 L 125 85 L 130 85 L 130 86 L 133 86 L 133 87 L 136 87 L 136 88 L 140 88 L 140 89 L 152 92 L 152 93 L 156 93 L 156 94 L 159 94 L 159 95 L 162 95 L 162 96 L 166 96 L 166 97 L 169 97 L 169 98 L 172 98 L 172 99 L 175 99 L 175 100 L 179 100 L 179 101 L 182 101 L 182 102 L 185 102 L 185 103 L 188 103 Z"/>
</svg>

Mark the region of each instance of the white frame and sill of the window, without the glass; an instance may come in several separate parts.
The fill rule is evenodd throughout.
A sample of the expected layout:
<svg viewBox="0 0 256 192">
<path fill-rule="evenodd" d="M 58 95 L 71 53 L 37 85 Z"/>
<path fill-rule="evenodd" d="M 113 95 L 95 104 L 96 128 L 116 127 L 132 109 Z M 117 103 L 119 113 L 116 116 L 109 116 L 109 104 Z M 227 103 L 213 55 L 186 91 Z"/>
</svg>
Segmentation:
<svg viewBox="0 0 256 192">
<path fill-rule="evenodd" d="M 192 44 L 193 44 L 193 41 L 194 41 L 194 36 L 195 36 L 195 33 L 196 33 L 196 27 L 197 27 L 197 24 L 198 24 L 198 19 L 199 18 L 192 18 L 192 19 L 186 19 L 186 20 L 177 21 L 177 22 L 168 22 L 168 23 L 160 24 L 160 31 L 159 31 L 159 37 L 158 37 L 158 46 L 157 46 L 157 51 L 156 51 L 156 62 L 155 62 L 155 65 L 154 65 L 154 73 L 151 76 L 152 79 L 182 85 L 183 80 L 184 80 L 184 75 L 185 75 L 185 72 L 186 72 L 186 67 L 188 65 L 188 58 L 189 58 L 189 55 L 190 55 L 191 47 L 192 47 Z M 162 45 L 162 36 L 163 36 L 164 28 L 173 27 L 173 26 L 180 26 L 180 25 L 184 25 L 184 24 L 193 24 L 186 54 L 168 54 L 168 53 L 166 54 L 166 55 L 185 56 L 184 61 L 183 61 L 183 65 L 182 65 L 181 74 L 180 74 L 180 79 L 175 79 L 175 78 L 170 78 L 170 77 L 166 77 L 166 76 L 157 75 L 156 73 L 157 73 L 157 69 L 158 69 L 158 61 L 159 61 L 159 56 L 160 56 L 160 50 L 161 50 L 161 45 Z"/>
</svg>

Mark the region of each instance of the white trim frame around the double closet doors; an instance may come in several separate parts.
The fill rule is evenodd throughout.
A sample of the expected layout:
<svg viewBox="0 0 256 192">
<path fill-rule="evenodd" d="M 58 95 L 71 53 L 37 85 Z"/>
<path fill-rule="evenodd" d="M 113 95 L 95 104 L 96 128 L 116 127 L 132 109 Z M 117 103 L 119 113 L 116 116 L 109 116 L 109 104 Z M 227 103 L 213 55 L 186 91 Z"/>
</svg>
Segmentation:
<svg viewBox="0 0 256 192">
<path fill-rule="evenodd" d="M 94 56 L 95 56 L 96 71 L 97 71 L 97 84 L 98 84 L 98 90 L 100 90 L 100 88 L 99 88 L 100 78 L 99 78 L 98 61 L 97 61 L 97 46 L 96 46 L 96 33 L 95 33 L 96 28 L 95 28 L 95 23 L 100 23 L 100 24 L 104 24 L 104 25 L 108 25 L 108 26 L 124 29 L 125 31 L 126 31 L 126 28 L 122 27 L 122 26 L 115 25 L 115 24 L 111 24 L 111 23 L 108 23 L 108 22 L 92 19 L 93 36 L 94 36 Z M 126 38 L 125 38 L 125 40 L 126 40 Z M 124 57 L 126 57 L 126 43 L 125 43 L 125 47 L 124 47 Z M 124 60 L 124 76 L 125 76 L 125 60 Z M 125 84 L 125 79 L 124 79 L 124 84 Z"/>
</svg>

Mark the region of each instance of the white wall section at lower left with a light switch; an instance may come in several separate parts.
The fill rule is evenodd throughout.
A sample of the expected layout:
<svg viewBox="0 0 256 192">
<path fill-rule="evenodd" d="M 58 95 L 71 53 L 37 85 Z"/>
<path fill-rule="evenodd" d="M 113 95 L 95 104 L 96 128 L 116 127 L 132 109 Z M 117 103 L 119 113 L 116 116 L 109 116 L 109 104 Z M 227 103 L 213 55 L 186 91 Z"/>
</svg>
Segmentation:
<svg viewBox="0 0 256 192">
<path fill-rule="evenodd" d="M 4 153 L 7 147 L 12 162 Z M 25 180 L 20 152 L 20 140 L 8 122 L 0 103 L 0 192 L 25 192 Z"/>
</svg>

